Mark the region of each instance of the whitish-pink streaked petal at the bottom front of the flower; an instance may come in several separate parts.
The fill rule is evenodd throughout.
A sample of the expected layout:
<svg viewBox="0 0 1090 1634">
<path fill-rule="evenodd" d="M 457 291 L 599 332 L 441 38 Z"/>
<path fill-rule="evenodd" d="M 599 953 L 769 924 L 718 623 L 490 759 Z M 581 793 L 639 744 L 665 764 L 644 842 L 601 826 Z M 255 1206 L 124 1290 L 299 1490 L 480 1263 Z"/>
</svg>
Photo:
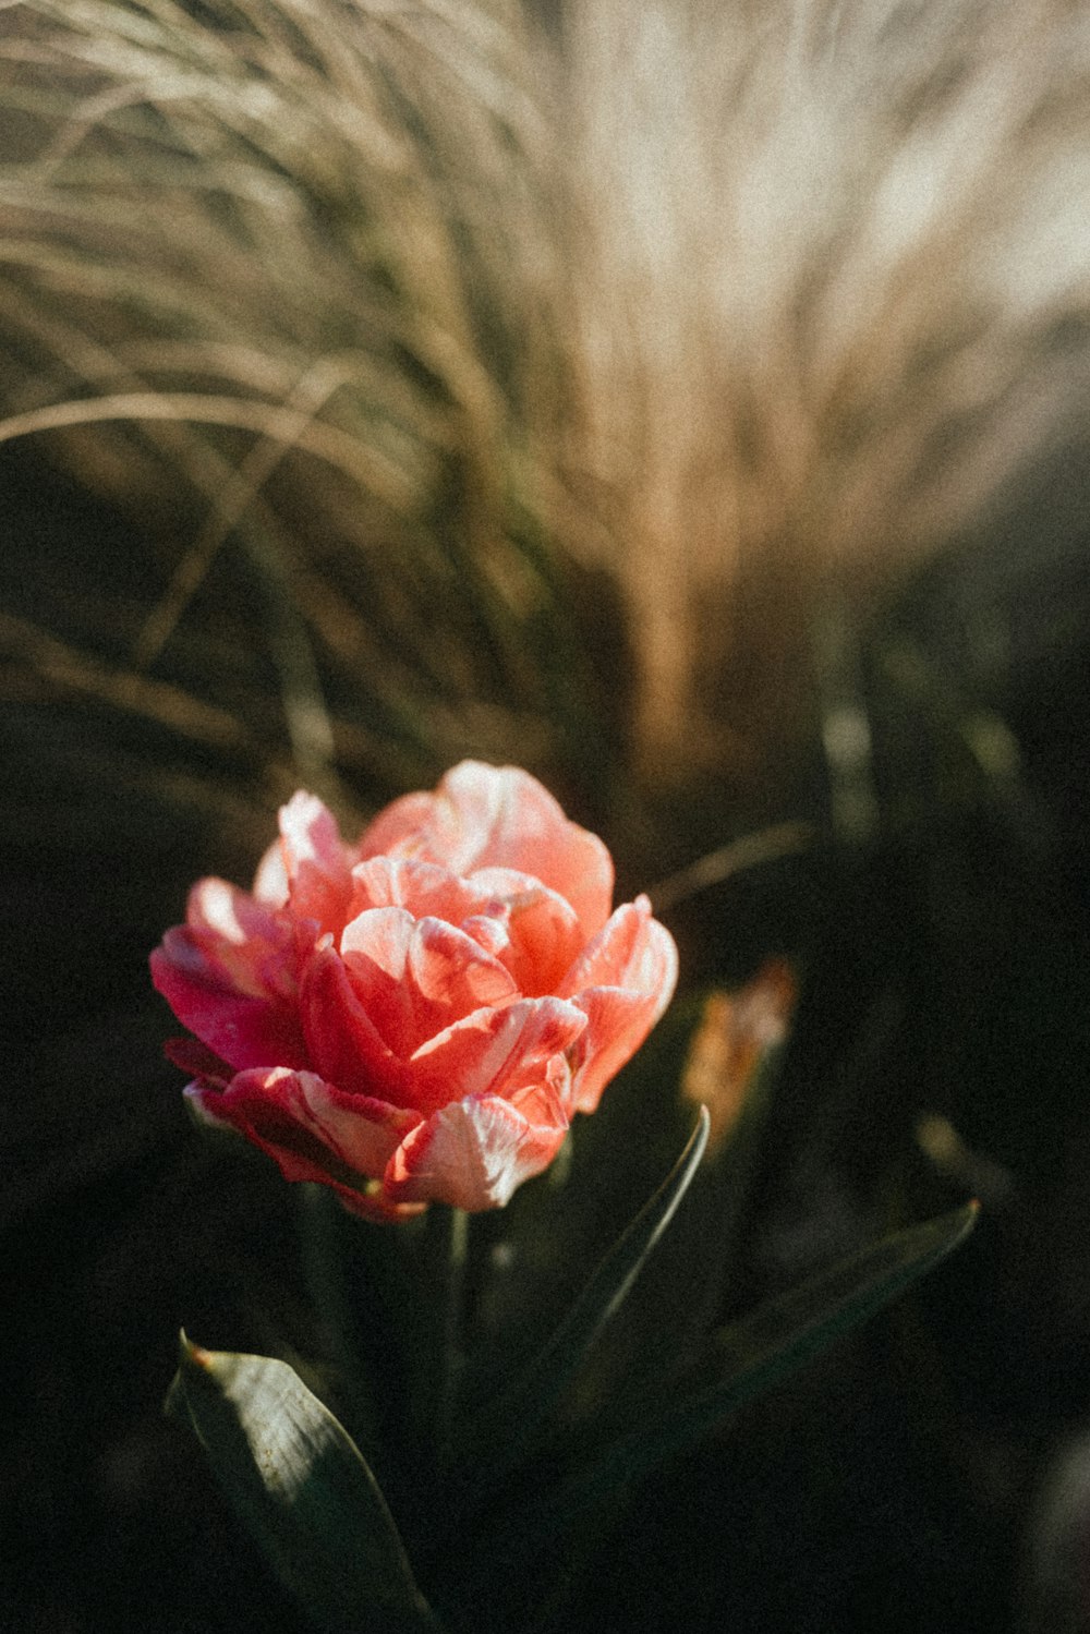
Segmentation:
<svg viewBox="0 0 1090 1634">
<path fill-rule="evenodd" d="M 386 1193 L 394 1201 L 449 1203 L 474 1212 L 502 1208 L 523 1180 L 547 1168 L 565 1132 L 567 1118 L 556 1101 L 541 1121 L 497 1096 L 454 1101 L 400 1144 Z"/>
</svg>

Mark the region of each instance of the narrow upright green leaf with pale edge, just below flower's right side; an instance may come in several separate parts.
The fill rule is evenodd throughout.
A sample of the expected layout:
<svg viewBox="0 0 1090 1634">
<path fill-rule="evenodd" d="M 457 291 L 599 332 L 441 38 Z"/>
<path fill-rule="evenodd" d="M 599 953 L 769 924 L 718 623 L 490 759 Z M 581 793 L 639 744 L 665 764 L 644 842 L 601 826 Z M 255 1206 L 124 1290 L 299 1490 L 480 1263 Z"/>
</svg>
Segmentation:
<svg viewBox="0 0 1090 1634">
<path fill-rule="evenodd" d="M 708 1109 L 701 1106 L 696 1127 L 662 1186 L 610 1248 L 521 1379 L 487 1409 L 479 1423 L 471 1426 L 471 1438 L 476 1435 L 476 1440 L 462 1449 L 462 1456 L 471 1461 L 467 1484 L 474 1482 L 474 1477 L 480 1485 L 485 1480 L 497 1480 L 533 1443 L 543 1420 L 628 1297 L 647 1255 L 670 1224 L 704 1155 L 708 1129 Z M 479 1464 L 479 1469 L 474 1469 L 474 1464 Z"/>
</svg>

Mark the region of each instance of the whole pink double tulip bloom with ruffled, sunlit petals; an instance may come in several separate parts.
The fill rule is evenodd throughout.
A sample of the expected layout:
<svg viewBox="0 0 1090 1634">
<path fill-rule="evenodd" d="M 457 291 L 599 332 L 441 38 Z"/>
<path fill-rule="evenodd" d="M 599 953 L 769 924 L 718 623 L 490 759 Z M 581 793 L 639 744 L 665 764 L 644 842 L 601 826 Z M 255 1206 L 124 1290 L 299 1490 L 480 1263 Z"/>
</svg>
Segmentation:
<svg viewBox="0 0 1090 1634">
<path fill-rule="evenodd" d="M 497 1208 L 642 1044 L 677 980 L 647 897 L 528 773 L 462 761 L 346 845 L 312 794 L 253 892 L 203 879 L 152 977 L 209 1123 L 356 1214 Z"/>
</svg>

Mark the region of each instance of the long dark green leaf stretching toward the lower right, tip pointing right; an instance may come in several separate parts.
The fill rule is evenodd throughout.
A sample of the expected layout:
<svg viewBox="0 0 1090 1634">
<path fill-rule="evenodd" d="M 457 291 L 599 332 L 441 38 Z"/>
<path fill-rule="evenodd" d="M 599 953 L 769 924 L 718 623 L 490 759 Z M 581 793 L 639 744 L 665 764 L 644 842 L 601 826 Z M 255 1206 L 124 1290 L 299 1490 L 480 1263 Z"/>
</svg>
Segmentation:
<svg viewBox="0 0 1090 1634">
<path fill-rule="evenodd" d="M 526 1536 L 564 1529 L 616 1489 L 717 1428 L 938 1265 L 969 1235 L 977 1214 L 979 1206 L 969 1203 L 886 1237 L 722 1330 L 714 1340 L 713 1384 L 657 1417 L 646 1415 L 639 1430 L 554 1487 L 539 1507 L 523 1511 L 520 1529 Z"/>
</svg>

